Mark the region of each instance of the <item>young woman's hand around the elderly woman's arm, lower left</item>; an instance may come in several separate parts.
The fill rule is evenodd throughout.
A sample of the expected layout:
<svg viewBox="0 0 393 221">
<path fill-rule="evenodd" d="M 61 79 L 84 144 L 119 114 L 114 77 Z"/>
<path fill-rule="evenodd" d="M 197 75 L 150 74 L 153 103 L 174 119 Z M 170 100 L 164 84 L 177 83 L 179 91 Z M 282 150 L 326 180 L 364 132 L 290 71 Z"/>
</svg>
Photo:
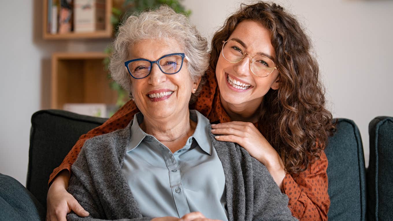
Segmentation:
<svg viewBox="0 0 393 221">
<path fill-rule="evenodd" d="M 66 216 L 71 211 L 81 217 L 89 215 L 78 201 L 67 192 L 68 180 L 70 180 L 68 171 L 59 173 L 53 180 L 46 197 L 46 221 L 66 221 Z"/>
</svg>

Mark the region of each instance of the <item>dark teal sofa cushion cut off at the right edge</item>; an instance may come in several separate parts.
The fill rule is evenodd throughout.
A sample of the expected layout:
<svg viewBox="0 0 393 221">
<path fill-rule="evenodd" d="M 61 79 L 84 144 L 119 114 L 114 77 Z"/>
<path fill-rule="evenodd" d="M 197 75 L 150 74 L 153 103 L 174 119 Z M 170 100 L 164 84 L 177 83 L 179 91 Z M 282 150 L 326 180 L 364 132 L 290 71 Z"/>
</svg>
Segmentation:
<svg viewBox="0 0 393 221">
<path fill-rule="evenodd" d="M 393 118 L 374 118 L 369 123 L 369 135 L 367 218 L 390 220 L 393 217 Z"/>
</svg>

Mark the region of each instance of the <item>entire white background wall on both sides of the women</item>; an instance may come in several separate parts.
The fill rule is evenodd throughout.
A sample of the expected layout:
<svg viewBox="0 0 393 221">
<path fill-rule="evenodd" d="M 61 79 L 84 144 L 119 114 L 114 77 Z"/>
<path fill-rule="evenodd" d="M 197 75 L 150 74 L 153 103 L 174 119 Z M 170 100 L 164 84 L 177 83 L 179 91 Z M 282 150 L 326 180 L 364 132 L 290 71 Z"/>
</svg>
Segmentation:
<svg viewBox="0 0 393 221">
<path fill-rule="evenodd" d="M 191 21 L 210 41 L 234 0 L 184 0 Z M 393 116 L 393 2 L 388 0 L 280 1 L 298 15 L 315 43 L 334 117 L 354 120 L 368 163 L 368 123 Z M 109 40 L 42 40 L 42 1 L 0 2 L 0 173 L 26 183 L 30 117 L 49 108 L 50 55 L 57 51 L 102 51 Z"/>
</svg>

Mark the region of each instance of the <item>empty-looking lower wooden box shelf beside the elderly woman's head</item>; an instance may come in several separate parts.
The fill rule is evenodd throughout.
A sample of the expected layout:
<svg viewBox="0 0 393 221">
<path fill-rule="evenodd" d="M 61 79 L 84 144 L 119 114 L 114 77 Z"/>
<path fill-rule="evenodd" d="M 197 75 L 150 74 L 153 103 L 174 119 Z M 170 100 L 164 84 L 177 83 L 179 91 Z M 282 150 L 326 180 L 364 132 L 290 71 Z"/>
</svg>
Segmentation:
<svg viewBox="0 0 393 221">
<path fill-rule="evenodd" d="M 110 89 L 108 71 L 101 52 L 53 53 L 51 73 L 51 108 L 65 103 L 116 104 L 117 93 Z"/>
</svg>

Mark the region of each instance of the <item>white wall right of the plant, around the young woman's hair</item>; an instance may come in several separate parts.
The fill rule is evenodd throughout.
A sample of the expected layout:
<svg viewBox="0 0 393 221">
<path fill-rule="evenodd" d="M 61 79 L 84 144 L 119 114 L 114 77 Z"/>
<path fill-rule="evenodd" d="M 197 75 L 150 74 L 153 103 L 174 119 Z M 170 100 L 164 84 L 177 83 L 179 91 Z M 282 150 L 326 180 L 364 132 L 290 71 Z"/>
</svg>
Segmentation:
<svg viewBox="0 0 393 221">
<path fill-rule="evenodd" d="M 191 22 L 208 38 L 239 8 L 239 0 L 185 0 Z M 368 166 L 368 123 L 393 116 L 393 1 L 280 0 L 295 14 L 314 42 L 335 118 L 349 118 L 359 127 Z M 207 7 L 209 6 L 209 7 Z"/>
</svg>

